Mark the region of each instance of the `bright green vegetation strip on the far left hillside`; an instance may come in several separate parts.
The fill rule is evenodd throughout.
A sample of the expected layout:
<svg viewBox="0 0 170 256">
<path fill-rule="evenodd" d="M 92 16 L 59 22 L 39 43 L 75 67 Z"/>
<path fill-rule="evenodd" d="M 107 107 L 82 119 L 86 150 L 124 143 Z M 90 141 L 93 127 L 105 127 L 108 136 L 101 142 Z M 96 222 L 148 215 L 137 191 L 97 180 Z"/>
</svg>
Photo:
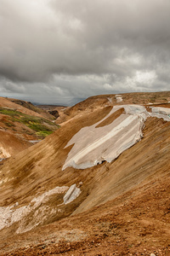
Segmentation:
<svg viewBox="0 0 170 256">
<path fill-rule="evenodd" d="M 53 133 L 53 131 L 59 128 L 59 125 L 54 124 L 48 119 L 31 116 L 26 113 L 20 113 L 14 109 L 0 108 L 0 113 L 10 117 L 10 122 L 8 122 L 8 124 L 6 123 L 8 127 L 14 126 L 11 124 L 11 122 L 19 122 L 35 131 L 37 136 L 40 138 L 47 137 L 49 134 Z"/>
</svg>

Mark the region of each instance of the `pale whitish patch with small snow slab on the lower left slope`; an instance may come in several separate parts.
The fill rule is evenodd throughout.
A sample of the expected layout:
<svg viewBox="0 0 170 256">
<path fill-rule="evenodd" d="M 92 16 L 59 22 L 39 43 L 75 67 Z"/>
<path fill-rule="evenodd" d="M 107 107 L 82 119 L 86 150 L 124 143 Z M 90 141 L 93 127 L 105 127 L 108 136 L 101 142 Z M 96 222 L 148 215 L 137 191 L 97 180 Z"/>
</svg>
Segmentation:
<svg viewBox="0 0 170 256">
<path fill-rule="evenodd" d="M 77 188 L 76 184 L 71 185 L 70 189 L 67 186 L 56 187 L 33 198 L 27 206 L 19 207 L 19 203 L 17 202 L 12 206 L 0 207 L 0 230 L 6 226 L 11 226 L 18 221 L 21 223 L 18 230 L 16 230 L 16 233 L 23 233 L 33 229 L 38 224 L 41 224 L 44 218 L 47 218 L 47 212 L 49 215 L 57 214 L 56 209 L 44 205 L 48 202 L 49 197 L 51 195 L 64 193 L 64 204 L 68 204 L 81 194 L 81 190 Z M 34 218 L 32 218 L 31 222 L 25 224 L 25 219 L 30 212 L 33 212 L 32 214 L 34 214 Z"/>
</svg>

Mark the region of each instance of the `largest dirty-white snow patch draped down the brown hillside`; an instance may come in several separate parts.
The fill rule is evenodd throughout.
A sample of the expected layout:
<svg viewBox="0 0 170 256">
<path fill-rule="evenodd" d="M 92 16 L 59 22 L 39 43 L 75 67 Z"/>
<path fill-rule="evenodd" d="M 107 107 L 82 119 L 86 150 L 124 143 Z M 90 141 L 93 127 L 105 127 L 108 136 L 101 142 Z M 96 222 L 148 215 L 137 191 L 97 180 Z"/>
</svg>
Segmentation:
<svg viewBox="0 0 170 256">
<path fill-rule="evenodd" d="M 96 128 L 99 123 L 120 108 L 124 108 L 125 113 L 122 113 L 111 124 Z M 105 119 L 95 125 L 82 128 L 71 138 L 66 147 L 71 144 L 74 146 L 71 148 L 62 170 L 68 166 L 86 169 L 96 166 L 103 160 L 111 162 L 143 137 L 142 128 L 145 119 L 153 116 L 170 120 L 169 108 L 151 107 L 151 110 L 152 113 L 149 113 L 140 105 L 114 106 Z"/>
</svg>

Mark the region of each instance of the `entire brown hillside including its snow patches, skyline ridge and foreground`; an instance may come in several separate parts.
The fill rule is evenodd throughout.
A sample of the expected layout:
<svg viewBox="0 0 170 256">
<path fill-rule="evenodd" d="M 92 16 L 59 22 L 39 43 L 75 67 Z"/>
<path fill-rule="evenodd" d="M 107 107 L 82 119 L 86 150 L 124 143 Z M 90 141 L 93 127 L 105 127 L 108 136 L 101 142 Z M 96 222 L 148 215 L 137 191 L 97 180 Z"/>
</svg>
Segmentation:
<svg viewBox="0 0 170 256">
<path fill-rule="evenodd" d="M 56 122 L 1 162 L 0 255 L 169 255 L 170 92 L 93 96 Z"/>
</svg>

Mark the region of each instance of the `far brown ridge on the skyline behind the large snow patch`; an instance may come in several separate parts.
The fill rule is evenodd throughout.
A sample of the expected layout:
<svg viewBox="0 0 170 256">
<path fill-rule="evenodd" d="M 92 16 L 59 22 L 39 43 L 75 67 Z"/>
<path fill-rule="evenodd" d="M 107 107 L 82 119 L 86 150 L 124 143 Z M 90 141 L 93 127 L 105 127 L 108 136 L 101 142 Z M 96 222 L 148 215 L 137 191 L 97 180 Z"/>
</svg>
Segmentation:
<svg viewBox="0 0 170 256">
<path fill-rule="evenodd" d="M 59 110 L 59 118 L 57 123 L 61 124 L 71 118 L 78 117 L 84 112 L 91 113 L 96 108 L 104 108 L 106 106 L 124 105 L 124 104 L 155 104 L 164 103 L 170 105 L 170 91 L 162 92 L 138 92 L 123 93 L 122 102 L 116 101 L 116 95 L 91 96 L 83 102 L 77 103 L 73 107 Z M 163 106 L 162 106 L 163 107 Z"/>
</svg>

